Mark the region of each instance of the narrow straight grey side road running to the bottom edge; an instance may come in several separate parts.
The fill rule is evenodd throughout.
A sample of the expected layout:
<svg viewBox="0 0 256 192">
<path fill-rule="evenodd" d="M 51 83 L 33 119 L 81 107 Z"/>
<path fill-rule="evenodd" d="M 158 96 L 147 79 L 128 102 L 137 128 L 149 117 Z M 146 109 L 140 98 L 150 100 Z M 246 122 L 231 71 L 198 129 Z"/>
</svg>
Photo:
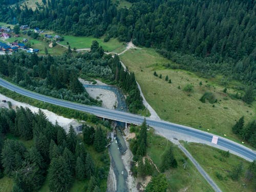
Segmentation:
<svg viewBox="0 0 256 192">
<path fill-rule="evenodd" d="M 186 150 L 184 146 L 181 144 L 178 147 L 183 151 L 183 153 L 190 159 L 190 161 L 197 167 L 200 174 L 204 177 L 204 179 L 210 184 L 210 186 L 216 191 L 221 192 L 221 189 L 216 185 L 216 183 L 210 178 L 210 176 L 204 171 L 204 169 L 199 165 L 199 163 L 191 156 L 191 154 Z"/>
</svg>

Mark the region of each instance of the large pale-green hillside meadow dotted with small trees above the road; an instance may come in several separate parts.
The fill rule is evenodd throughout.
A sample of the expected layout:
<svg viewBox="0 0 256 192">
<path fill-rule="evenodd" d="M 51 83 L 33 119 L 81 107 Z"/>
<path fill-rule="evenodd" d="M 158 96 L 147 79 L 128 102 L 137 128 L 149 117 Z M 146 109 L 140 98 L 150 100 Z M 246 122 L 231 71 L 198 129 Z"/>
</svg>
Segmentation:
<svg viewBox="0 0 256 192">
<path fill-rule="evenodd" d="M 146 100 L 164 120 L 238 141 L 238 137 L 231 131 L 232 125 L 243 115 L 246 123 L 256 117 L 256 102 L 250 107 L 241 100 L 228 97 L 223 93 L 224 87 L 218 84 L 219 77 L 204 79 L 187 71 L 168 69 L 163 65 L 172 61 L 163 58 L 153 49 L 129 50 L 120 58 L 130 71 L 135 72 Z M 162 78 L 155 77 L 154 71 L 158 75 L 162 74 Z M 172 83 L 165 81 L 166 75 Z M 193 92 L 183 90 L 187 84 L 194 86 Z M 205 92 L 213 93 L 218 102 L 202 103 L 199 99 Z M 231 88 L 227 90 L 227 93 L 236 92 Z"/>
</svg>

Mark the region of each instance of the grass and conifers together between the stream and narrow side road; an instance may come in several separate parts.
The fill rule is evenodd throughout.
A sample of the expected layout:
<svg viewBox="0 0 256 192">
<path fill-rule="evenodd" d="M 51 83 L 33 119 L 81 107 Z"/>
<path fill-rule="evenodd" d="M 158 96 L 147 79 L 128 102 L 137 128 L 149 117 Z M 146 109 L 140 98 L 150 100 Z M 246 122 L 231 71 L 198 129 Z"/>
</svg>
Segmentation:
<svg viewBox="0 0 256 192">
<path fill-rule="evenodd" d="M 132 163 L 133 175 L 138 178 L 145 178 L 146 176 L 159 177 L 167 191 L 183 189 L 189 191 L 214 191 L 197 171 L 193 163 L 187 159 L 175 144 L 162 136 L 156 135 L 154 130 L 147 129 L 145 124 L 142 126 L 131 125 L 130 132 L 136 133 L 136 138 L 130 140 L 130 148 L 134 154 L 134 163 Z M 145 138 L 146 147 L 140 150 L 141 146 L 145 146 L 142 144 Z M 144 155 L 139 155 L 143 154 L 141 152 L 144 152 Z M 165 181 L 167 185 L 165 185 Z M 152 183 L 148 184 L 146 191 L 150 191 L 154 186 L 161 187 L 159 183 L 155 183 L 155 179 L 152 179 Z"/>
</svg>

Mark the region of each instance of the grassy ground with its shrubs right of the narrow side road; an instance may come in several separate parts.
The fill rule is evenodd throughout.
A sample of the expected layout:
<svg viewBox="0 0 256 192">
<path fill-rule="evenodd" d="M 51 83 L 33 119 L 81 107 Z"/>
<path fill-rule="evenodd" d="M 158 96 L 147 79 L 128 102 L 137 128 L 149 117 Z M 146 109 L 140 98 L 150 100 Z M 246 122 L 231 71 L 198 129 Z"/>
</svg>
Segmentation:
<svg viewBox="0 0 256 192">
<path fill-rule="evenodd" d="M 256 166 L 229 152 L 201 143 L 183 142 L 189 153 L 198 161 L 223 191 L 254 191 Z"/>
</svg>

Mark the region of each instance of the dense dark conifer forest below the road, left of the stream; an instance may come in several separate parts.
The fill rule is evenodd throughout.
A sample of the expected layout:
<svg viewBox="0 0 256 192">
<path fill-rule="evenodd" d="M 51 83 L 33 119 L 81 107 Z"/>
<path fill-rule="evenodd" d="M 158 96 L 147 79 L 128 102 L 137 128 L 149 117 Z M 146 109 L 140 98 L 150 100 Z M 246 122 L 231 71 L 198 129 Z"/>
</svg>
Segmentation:
<svg viewBox="0 0 256 192">
<path fill-rule="evenodd" d="M 88 127 L 84 125 L 83 130 Z M 0 178 L 12 178 L 12 191 L 19 192 L 40 189 L 46 177 L 51 191 L 69 191 L 75 180 L 87 180 L 86 191 L 101 191 L 100 184 L 108 177 L 110 165 L 105 153 L 106 135 L 100 126 L 90 129 L 94 131 L 91 139 L 82 139 L 74 127 L 70 126 L 66 133 L 40 110 L 32 113 L 22 106 L 0 109 Z M 18 139 L 9 139 L 10 135 Z M 22 141 L 29 140 L 32 145 L 27 148 Z M 88 141 L 101 153 L 104 166 L 95 165 L 87 150 Z"/>
</svg>

